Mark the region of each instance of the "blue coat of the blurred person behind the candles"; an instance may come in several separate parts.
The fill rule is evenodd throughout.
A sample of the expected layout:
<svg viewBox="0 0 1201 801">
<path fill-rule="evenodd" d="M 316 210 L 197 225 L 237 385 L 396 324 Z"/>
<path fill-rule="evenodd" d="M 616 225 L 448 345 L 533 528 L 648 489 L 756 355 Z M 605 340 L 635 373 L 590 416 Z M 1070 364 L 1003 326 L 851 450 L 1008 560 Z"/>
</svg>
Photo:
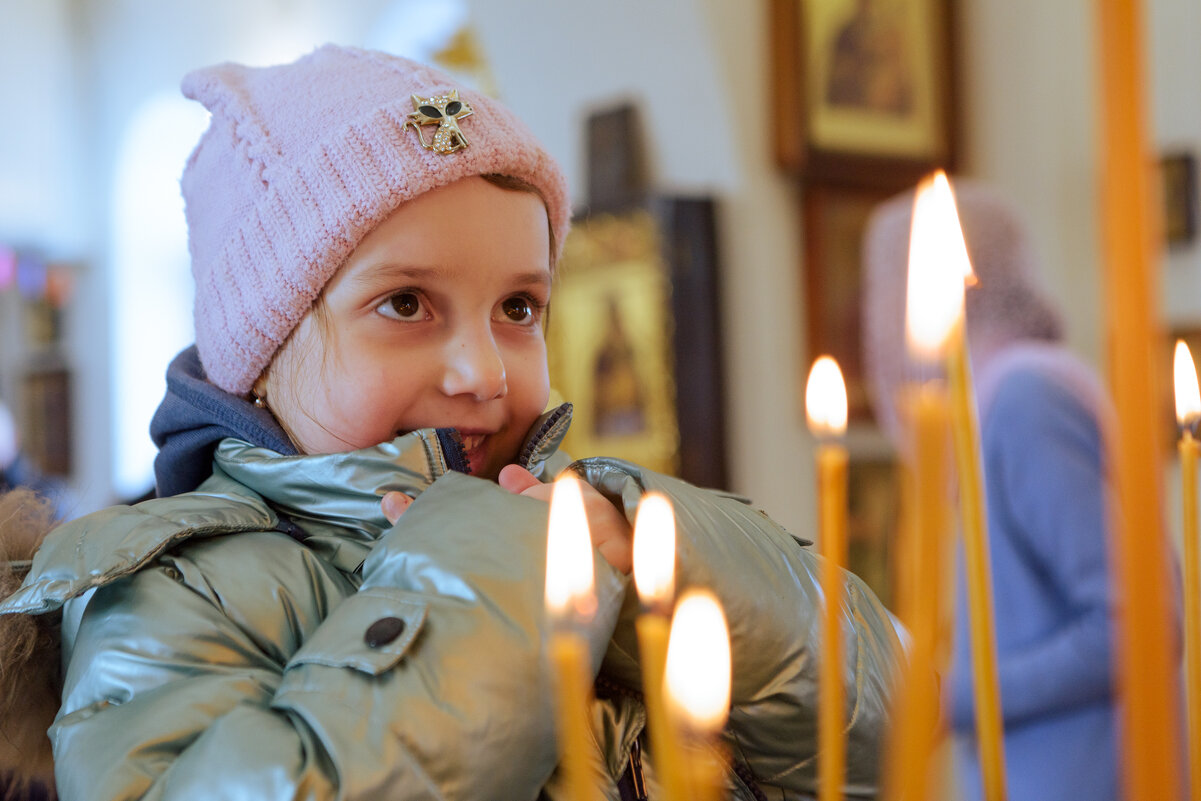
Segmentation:
<svg viewBox="0 0 1201 801">
<path fill-rule="evenodd" d="M 1009 797 L 1116 800 L 1105 394 L 1033 342 L 990 359 L 978 387 Z M 950 712 L 964 797 L 980 799 L 967 608 L 961 569 Z"/>
</svg>

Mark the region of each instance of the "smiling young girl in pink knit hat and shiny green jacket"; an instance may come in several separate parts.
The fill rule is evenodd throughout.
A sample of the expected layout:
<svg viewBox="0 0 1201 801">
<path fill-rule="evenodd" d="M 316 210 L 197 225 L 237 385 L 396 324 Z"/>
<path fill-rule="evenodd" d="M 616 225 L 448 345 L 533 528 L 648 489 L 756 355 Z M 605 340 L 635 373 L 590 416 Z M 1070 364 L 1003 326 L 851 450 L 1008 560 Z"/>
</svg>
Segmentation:
<svg viewBox="0 0 1201 801">
<path fill-rule="evenodd" d="M 679 584 L 734 650 L 733 797 L 815 788 L 817 558 L 743 502 L 557 450 L 543 321 L 563 179 L 495 101 L 327 46 L 184 91 L 197 343 L 153 434 L 160 497 L 54 531 L 8 614 L 59 614 L 64 799 L 562 797 L 543 587 L 549 482 L 586 484 L 596 548 L 591 761 L 656 797 L 629 586 L 665 492 Z M 570 324 L 570 321 L 561 321 Z M 897 644 L 843 605 L 846 790 L 876 791 Z"/>
</svg>

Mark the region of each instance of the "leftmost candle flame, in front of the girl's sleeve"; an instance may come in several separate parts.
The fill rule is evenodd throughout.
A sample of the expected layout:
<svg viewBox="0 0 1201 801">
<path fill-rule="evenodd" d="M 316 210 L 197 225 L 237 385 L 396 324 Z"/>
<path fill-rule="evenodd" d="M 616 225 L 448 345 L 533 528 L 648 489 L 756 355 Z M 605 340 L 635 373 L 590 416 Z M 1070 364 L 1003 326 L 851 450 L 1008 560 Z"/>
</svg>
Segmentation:
<svg viewBox="0 0 1201 801">
<path fill-rule="evenodd" d="M 568 610 L 591 615 L 596 606 L 592 537 L 584 496 L 574 477 L 564 476 L 555 482 L 546 528 L 546 609 L 556 616 Z"/>
</svg>

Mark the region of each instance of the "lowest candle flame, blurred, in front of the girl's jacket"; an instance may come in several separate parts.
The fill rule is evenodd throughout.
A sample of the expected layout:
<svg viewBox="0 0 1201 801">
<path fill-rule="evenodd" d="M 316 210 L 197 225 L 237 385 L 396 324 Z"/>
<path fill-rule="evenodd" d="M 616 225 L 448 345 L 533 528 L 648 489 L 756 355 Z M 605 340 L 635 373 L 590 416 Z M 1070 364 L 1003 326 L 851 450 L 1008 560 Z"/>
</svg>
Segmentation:
<svg viewBox="0 0 1201 801">
<path fill-rule="evenodd" d="M 663 677 L 668 706 L 693 731 L 716 733 L 730 710 L 730 634 L 717 598 L 689 590 L 680 599 L 668 636 Z"/>
</svg>

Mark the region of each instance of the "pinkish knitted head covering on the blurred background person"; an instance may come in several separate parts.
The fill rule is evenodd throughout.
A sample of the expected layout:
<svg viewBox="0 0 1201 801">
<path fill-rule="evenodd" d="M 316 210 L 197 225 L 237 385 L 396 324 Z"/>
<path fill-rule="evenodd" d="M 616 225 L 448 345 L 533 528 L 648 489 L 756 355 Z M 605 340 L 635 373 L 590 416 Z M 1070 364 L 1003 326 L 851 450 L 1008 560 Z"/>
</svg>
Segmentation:
<svg viewBox="0 0 1201 801">
<path fill-rule="evenodd" d="M 979 372 L 999 351 L 1021 341 L 1063 337 L 1059 310 L 1039 280 L 1040 265 L 1017 209 L 996 190 L 970 180 L 952 183 L 960 223 L 975 283 L 964 295 L 973 369 Z M 908 355 L 906 285 L 914 191 L 880 204 L 867 222 L 862 249 L 864 366 L 876 419 L 906 450 L 897 390 L 931 377 Z"/>
</svg>

